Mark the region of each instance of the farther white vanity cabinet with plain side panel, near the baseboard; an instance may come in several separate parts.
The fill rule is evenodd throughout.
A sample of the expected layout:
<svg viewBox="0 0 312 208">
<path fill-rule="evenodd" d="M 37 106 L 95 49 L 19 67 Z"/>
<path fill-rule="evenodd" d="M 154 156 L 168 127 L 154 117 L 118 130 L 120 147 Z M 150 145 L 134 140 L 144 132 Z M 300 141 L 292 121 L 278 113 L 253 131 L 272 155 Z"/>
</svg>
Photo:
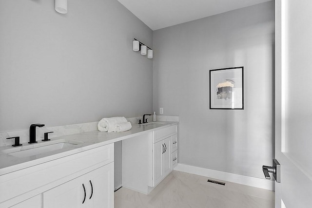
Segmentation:
<svg viewBox="0 0 312 208">
<path fill-rule="evenodd" d="M 150 193 L 173 170 L 176 142 L 177 124 L 122 140 L 122 186 Z"/>
</svg>

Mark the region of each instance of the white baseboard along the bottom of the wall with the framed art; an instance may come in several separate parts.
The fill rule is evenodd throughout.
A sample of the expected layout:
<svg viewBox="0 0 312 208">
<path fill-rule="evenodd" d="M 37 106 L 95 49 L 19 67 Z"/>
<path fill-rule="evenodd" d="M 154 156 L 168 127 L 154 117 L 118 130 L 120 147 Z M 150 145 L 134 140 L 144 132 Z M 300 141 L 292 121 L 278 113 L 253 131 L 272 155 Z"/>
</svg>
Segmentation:
<svg viewBox="0 0 312 208">
<path fill-rule="evenodd" d="M 229 181 L 237 184 L 252 186 L 260 189 L 274 190 L 274 181 L 272 180 L 255 178 L 251 176 L 240 175 L 230 172 L 223 172 L 219 170 L 200 168 L 180 163 L 177 164 L 174 170 L 215 178 L 223 181 Z"/>
</svg>

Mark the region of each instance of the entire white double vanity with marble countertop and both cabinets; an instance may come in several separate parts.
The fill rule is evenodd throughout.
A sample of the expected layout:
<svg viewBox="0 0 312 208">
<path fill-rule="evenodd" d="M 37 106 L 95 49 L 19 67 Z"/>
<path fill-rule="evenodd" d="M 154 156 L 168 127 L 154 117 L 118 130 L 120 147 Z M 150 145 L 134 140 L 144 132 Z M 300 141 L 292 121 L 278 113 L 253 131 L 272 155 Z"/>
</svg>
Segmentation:
<svg viewBox="0 0 312 208">
<path fill-rule="evenodd" d="M 0 147 L 0 208 L 113 208 L 117 141 L 122 186 L 148 194 L 177 164 L 177 132 L 177 122 L 151 122 Z"/>
</svg>

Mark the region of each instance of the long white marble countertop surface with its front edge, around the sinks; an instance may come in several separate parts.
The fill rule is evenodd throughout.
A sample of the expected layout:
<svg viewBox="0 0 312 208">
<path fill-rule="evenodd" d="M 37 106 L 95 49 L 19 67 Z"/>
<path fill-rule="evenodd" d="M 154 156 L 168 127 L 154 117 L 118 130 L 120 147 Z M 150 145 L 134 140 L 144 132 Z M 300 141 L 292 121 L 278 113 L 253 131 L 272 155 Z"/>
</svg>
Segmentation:
<svg viewBox="0 0 312 208">
<path fill-rule="evenodd" d="M 153 122 L 157 123 L 157 122 Z M 22 143 L 20 147 L 4 146 L 0 147 L 0 175 L 7 174 L 13 171 L 21 170 L 30 166 L 38 165 L 40 163 L 45 163 L 51 160 L 55 160 L 61 157 L 65 157 L 71 154 L 75 154 L 81 151 L 87 151 L 93 148 L 97 148 L 103 145 L 118 142 L 124 139 L 128 139 L 137 135 L 141 135 L 146 132 L 151 132 L 154 130 L 166 128 L 172 125 L 176 125 L 178 122 L 159 122 L 159 124 L 133 124 L 132 129 L 126 132 L 82 132 L 71 135 L 64 135 L 59 137 L 54 137 L 51 139 L 53 142 L 69 142 L 77 141 L 77 145 L 72 145 L 74 147 L 67 147 L 60 150 L 48 151 L 36 155 L 16 157 L 6 153 L 14 148 L 21 149 L 31 149 L 33 147 L 42 146 L 45 142 L 39 141 L 36 144 Z"/>
</svg>

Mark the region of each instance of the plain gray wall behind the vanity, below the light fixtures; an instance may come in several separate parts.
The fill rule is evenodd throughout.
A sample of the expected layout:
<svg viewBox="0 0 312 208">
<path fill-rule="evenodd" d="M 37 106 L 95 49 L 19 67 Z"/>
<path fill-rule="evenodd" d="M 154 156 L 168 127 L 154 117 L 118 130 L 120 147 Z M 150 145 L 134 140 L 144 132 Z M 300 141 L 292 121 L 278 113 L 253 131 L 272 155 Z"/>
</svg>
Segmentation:
<svg viewBox="0 0 312 208">
<path fill-rule="evenodd" d="M 152 30 L 117 0 L 0 1 L 0 131 L 152 112 Z"/>
</svg>

